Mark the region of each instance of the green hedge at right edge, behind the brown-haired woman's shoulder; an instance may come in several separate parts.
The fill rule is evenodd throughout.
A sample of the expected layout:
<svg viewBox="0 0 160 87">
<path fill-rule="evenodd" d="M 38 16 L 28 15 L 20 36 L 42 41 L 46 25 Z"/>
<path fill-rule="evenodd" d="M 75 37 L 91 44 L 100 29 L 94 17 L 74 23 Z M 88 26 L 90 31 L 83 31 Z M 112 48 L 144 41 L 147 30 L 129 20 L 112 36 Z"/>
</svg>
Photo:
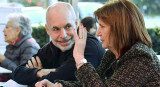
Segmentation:
<svg viewBox="0 0 160 87">
<path fill-rule="evenodd" d="M 152 39 L 152 48 L 153 50 L 160 55 L 160 27 L 156 27 L 153 29 L 147 29 L 148 33 Z"/>
</svg>

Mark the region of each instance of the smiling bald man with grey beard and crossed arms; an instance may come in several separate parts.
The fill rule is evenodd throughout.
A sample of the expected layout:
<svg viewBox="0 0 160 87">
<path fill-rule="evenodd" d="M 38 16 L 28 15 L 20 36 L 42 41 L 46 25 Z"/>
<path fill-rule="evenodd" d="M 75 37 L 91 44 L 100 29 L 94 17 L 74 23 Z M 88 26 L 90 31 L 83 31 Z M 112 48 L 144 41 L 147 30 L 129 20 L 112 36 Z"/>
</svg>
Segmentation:
<svg viewBox="0 0 160 87">
<path fill-rule="evenodd" d="M 57 2 L 49 6 L 46 12 L 46 31 L 51 40 L 42 47 L 27 63 L 13 72 L 13 79 L 24 85 L 48 79 L 75 81 L 76 63 L 73 58 L 75 43 L 74 29 L 77 30 L 77 19 L 69 3 Z M 105 53 L 99 40 L 88 33 L 84 57 L 95 68 Z"/>
</svg>

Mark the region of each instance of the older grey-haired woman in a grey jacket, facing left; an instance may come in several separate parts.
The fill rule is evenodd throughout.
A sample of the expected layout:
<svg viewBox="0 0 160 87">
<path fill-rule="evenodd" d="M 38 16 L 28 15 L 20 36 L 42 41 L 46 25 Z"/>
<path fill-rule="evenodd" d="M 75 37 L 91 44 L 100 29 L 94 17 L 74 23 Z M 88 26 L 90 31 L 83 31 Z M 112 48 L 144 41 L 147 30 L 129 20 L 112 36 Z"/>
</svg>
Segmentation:
<svg viewBox="0 0 160 87">
<path fill-rule="evenodd" d="M 14 71 L 17 66 L 36 54 L 40 47 L 31 36 L 31 21 L 27 16 L 10 14 L 3 32 L 5 42 L 9 45 L 6 47 L 4 56 L 0 54 L 0 66 Z"/>
</svg>

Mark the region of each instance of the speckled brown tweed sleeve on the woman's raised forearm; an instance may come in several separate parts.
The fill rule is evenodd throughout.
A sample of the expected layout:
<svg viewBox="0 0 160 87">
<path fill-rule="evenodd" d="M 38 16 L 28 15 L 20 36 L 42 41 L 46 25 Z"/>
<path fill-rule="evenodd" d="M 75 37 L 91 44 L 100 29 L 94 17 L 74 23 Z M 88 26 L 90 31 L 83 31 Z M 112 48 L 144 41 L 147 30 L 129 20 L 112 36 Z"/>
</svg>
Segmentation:
<svg viewBox="0 0 160 87">
<path fill-rule="evenodd" d="M 76 72 L 76 77 L 85 87 L 106 87 L 90 63 L 81 66 Z"/>
</svg>

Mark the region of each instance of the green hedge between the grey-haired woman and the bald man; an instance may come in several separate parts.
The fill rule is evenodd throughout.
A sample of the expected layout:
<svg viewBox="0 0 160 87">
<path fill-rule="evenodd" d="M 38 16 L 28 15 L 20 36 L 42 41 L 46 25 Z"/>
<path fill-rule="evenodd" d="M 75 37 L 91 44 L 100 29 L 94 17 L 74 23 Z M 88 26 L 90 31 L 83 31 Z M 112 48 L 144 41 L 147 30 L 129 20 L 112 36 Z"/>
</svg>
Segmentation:
<svg viewBox="0 0 160 87">
<path fill-rule="evenodd" d="M 40 25 L 38 27 L 32 27 L 32 36 L 40 45 L 40 47 L 44 46 L 50 40 L 43 25 Z"/>
</svg>

